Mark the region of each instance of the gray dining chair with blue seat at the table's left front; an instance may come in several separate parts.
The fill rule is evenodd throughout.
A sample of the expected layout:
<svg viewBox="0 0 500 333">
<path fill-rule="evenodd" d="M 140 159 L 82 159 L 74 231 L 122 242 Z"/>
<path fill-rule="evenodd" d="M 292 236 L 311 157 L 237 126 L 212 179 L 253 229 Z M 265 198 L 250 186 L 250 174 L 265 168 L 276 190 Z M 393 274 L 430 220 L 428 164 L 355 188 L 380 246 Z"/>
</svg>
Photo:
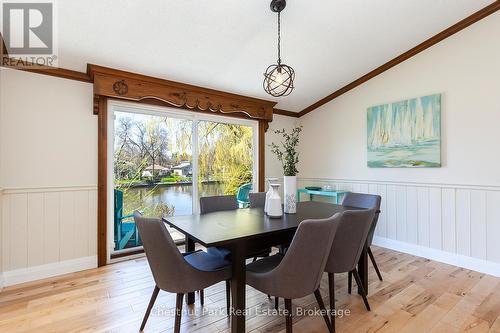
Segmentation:
<svg viewBox="0 0 500 333">
<path fill-rule="evenodd" d="M 231 264 L 221 257 L 203 251 L 182 255 L 164 222 L 159 218 L 145 218 L 136 213 L 134 220 L 156 283 L 140 331 L 146 326 L 158 293 L 164 290 L 177 294 L 174 332 L 178 333 L 184 294 L 228 281 L 231 278 Z"/>
</svg>

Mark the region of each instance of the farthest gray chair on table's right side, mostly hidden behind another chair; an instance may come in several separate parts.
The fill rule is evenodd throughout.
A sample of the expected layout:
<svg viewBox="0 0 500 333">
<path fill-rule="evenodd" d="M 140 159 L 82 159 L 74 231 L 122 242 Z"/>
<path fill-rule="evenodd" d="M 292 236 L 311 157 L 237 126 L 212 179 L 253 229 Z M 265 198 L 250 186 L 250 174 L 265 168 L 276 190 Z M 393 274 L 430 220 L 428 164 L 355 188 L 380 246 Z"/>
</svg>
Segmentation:
<svg viewBox="0 0 500 333">
<path fill-rule="evenodd" d="M 342 205 L 350 206 L 350 207 L 359 207 L 366 209 L 375 209 L 375 216 L 373 218 L 373 223 L 368 232 L 368 238 L 366 240 L 367 252 L 370 260 L 375 268 L 375 272 L 377 272 L 377 276 L 380 281 L 382 281 L 382 274 L 380 274 L 380 270 L 378 269 L 377 262 L 375 261 L 375 257 L 373 256 L 373 252 L 371 250 L 373 236 L 375 234 L 375 229 L 377 228 L 378 217 L 380 214 L 380 204 L 382 202 L 382 197 L 380 195 L 375 194 L 365 194 L 365 193 L 347 193 L 344 197 Z M 351 293 L 352 289 L 352 273 L 348 274 L 348 292 Z"/>
</svg>

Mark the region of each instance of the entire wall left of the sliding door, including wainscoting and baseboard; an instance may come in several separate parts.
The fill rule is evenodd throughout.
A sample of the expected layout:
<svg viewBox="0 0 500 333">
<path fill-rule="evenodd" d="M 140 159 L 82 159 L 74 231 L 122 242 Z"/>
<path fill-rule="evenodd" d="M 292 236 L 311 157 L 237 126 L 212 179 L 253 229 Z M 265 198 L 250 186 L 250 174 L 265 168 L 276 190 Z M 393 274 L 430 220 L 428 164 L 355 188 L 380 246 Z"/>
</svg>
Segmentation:
<svg viewBox="0 0 500 333">
<path fill-rule="evenodd" d="M 0 105 L 6 284 L 95 266 L 91 85 L 2 68 Z"/>
</svg>

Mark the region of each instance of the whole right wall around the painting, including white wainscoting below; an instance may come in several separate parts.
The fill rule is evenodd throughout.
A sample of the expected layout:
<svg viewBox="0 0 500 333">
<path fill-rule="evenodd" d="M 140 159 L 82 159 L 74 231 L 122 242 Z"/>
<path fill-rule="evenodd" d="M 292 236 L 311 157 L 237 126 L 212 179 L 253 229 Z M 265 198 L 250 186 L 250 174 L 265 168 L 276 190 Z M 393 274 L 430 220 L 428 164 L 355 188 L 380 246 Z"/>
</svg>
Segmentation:
<svg viewBox="0 0 500 333">
<path fill-rule="evenodd" d="M 500 275 L 499 31 L 496 13 L 302 117 L 301 183 L 378 193 L 384 246 Z M 368 168 L 367 108 L 434 93 L 443 167 Z"/>
</svg>

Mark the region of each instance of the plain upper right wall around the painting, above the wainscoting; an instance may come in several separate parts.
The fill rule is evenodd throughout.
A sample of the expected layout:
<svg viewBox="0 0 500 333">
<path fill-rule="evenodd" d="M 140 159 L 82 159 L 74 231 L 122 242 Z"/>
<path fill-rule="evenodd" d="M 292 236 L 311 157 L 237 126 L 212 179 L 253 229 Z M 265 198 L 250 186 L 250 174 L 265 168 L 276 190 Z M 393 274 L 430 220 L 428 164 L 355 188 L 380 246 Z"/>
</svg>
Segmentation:
<svg viewBox="0 0 500 333">
<path fill-rule="evenodd" d="M 500 185 L 498 31 L 500 13 L 302 117 L 302 175 Z M 366 109 L 434 93 L 441 93 L 443 101 L 443 167 L 367 168 Z"/>
</svg>

